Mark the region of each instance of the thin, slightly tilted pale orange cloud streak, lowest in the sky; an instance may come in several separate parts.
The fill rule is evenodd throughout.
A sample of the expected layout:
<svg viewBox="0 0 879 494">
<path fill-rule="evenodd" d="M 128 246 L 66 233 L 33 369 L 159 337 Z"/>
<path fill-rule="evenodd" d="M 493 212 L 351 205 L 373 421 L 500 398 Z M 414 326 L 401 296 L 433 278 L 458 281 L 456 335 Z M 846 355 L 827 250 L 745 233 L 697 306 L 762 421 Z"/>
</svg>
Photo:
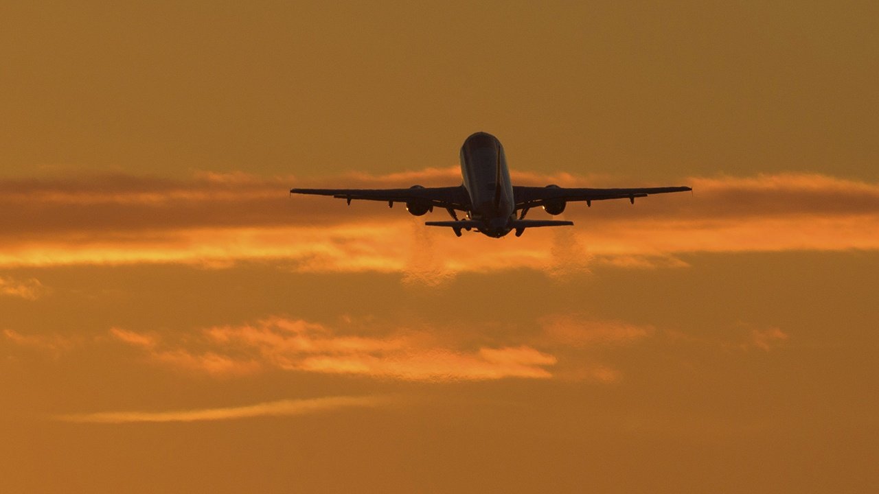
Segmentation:
<svg viewBox="0 0 879 494">
<path fill-rule="evenodd" d="M 300 400 L 279 400 L 252 405 L 171 411 L 104 411 L 61 415 L 55 417 L 63 422 L 88 424 L 130 424 L 136 422 L 196 422 L 205 420 L 231 420 L 234 418 L 282 417 L 308 415 L 345 408 L 373 408 L 388 403 L 381 396 L 327 396 Z"/>
</svg>

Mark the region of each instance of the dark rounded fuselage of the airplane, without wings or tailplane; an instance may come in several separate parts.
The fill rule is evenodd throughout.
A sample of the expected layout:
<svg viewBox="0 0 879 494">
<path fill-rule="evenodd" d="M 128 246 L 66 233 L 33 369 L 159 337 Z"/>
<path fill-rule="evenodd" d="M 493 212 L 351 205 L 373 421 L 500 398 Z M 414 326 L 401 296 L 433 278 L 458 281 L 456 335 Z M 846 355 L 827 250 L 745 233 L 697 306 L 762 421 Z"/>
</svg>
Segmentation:
<svg viewBox="0 0 879 494">
<path fill-rule="evenodd" d="M 467 217 L 483 222 L 478 230 L 493 237 L 510 233 L 516 204 L 504 147 L 484 132 L 470 135 L 461 146 L 461 177 L 470 196 Z"/>
</svg>

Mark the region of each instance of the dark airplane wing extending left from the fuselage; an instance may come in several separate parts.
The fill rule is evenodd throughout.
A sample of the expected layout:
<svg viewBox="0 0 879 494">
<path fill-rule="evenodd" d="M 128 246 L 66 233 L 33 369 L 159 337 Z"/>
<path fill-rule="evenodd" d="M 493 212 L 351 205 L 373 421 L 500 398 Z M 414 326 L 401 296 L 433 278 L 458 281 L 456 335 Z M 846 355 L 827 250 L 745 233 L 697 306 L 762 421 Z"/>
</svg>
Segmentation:
<svg viewBox="0 0 879 494">
<path fill-rule="evenodd" d="M 456 187 L 422 187 L 412 186 L 408 189 L 290 189 L 290 193 L 329 195 L 344 199 L 351 204 L 352 200 L 381 200 L 392 205 L 395 202 L 419 202 L 429 207 L 445 207 L 468 211 L 470 196 L 464 185 Z"/>
</svg>

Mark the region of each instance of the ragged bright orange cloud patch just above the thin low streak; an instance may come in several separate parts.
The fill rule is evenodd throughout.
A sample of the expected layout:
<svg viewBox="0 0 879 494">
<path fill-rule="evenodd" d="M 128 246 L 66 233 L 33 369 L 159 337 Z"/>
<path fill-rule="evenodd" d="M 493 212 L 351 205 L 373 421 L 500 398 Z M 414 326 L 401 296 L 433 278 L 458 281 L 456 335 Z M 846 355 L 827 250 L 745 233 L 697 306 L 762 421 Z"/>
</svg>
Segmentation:
<svg viewBox="0 0 879 494">
<path fill-rule="evenodd" d="M 441 345 L 423 331 L 363 337 L 281 317 L 214 326 L 200 331 L 199 338 L 155 340 L 119 329 L 111 334 L 156 363 L 218 375 L 280 368 L 403 381 L 483 381 L 548 378 L 552 374 L 545 367 L 556 364 L 555 356 L 526 345 L 467 351 Z"/>
</svg>

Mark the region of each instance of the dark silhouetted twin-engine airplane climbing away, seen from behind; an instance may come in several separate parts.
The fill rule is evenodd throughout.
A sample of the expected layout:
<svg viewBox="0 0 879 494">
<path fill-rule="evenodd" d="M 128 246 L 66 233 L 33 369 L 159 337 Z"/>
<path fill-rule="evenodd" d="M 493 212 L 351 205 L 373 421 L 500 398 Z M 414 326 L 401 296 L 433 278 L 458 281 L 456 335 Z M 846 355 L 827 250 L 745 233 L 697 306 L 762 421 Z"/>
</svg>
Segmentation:
<svg viewBox="0 0 879 494">
<path fill-rule="evenodd" d="M 690 187 L 647 187 L 635 189 L 566 188 L 558 185 L 531 187 L 512 185 L 506 166 L 504 147 L 494 135 L 485 132 L 471 134 L 461 146 L 461 177 L 463 184 L 453 187 L 423 187 L 408 189 L 290 189 L 290 193 L 327 195 L 352 200 L 387 201 L 388 207 L 403 202 L 406 210 L 415 216 L 443 207 L 453 221 L 425 222 L 431 227 L 447 227 L 454 235 L 461 230 L 473 230 L 486 236 L 500 238 L 511 231 L 521 236 L 525 229 L 537 227 L 570 226 L 574 222 L 560 220 L 526 220 L 525 214 L 533 207 L 543 207 L 548 214 L 562 214 L 568 202 L 585 201 L 591 207 L 593 200 L 628 199 L 635 204 L 636 197 L 656 193 L 680 193 Z M 458 219 L 457 211 L 466 219 Z M 517 215 L 516 213 L 519 212 Z"/>
</svg>

